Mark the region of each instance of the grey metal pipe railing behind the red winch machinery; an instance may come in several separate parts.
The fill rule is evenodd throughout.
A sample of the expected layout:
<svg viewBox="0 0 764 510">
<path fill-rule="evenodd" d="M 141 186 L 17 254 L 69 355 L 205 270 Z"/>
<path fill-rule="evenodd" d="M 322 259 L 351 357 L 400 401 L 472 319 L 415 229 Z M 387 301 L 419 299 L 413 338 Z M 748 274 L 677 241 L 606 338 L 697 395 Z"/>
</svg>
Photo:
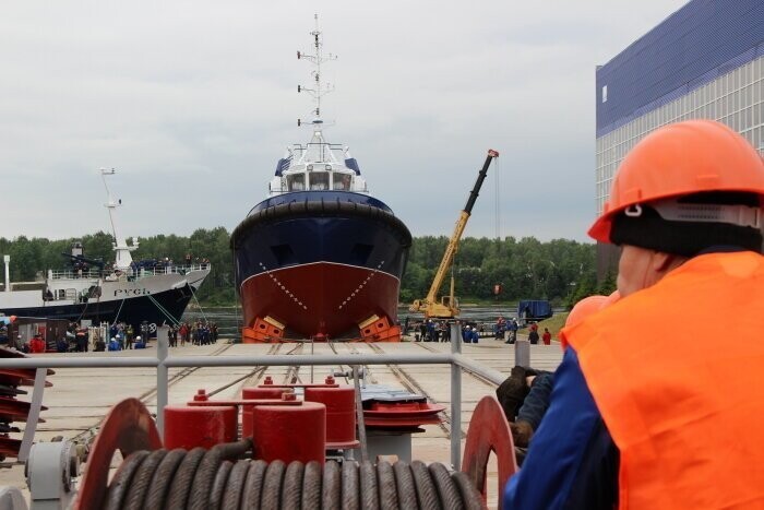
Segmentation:
<svg viewBox="0 0 764 510">
<path fill-rule="evenodd" d="M 166 327 L 163 327 L 166 328 Z M 461 328 L 457 322 L 452 328 Z M 452 330 L 450 353 L 429 354 L 297 354 L 297 355 L 248 355 L 248 356 L 169 356 L 167 335 L 157 332 L 156 356 L 141 357 L 27 357 L 0 358 L 0 368 L 34 368 L 34 391 L 29 414 L 22 439 L 19 461 L 28 458 L 34 440 L 34 431 L 43 405 L 43 393 L 48 368 L 155 368 L 156 369 L 156 425 L 164 435 L 164 408 L 168 405 L 169 369 L 188 367 L 288 367 L 288 366 L 348 366 L 362 365 L 449 365 L 451 366 L 451 463 L 458 469 L 462 458 L 462 371 L 467 370 L 497 386 L 506 378 L 490 367 L 486 367 L 462 354 L 462 339 L 458 329 Z"/>
</svg>

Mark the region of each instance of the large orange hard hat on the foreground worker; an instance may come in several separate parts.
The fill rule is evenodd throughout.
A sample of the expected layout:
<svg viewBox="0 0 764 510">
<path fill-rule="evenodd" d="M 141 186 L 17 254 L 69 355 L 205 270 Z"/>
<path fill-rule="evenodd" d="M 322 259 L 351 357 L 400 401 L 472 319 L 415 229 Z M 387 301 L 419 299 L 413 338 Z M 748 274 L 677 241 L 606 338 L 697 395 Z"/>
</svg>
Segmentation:
<svg viewBox="0 0 764 510">
<path fill-rule="evenodd" d="M 610 199 L 589 236 L 610 241 L 613 217 L 626 209 L 704 191 L 759 194 L 764 204 L 764 161 L 727 126 L 688 120 L 660 128 L 631 150 L 618 168 Z"/>
</svg>

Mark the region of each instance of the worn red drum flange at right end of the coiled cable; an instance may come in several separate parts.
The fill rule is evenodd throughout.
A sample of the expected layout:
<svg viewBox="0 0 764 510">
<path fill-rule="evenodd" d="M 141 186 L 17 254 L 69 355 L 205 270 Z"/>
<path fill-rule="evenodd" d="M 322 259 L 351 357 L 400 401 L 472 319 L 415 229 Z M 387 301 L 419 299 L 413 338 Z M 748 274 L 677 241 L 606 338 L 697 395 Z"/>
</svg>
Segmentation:
<svg viewBox="0 0 764 510">
<path fill-rule="evenodd" d="M 493 452 L 499 463 L 499 508 L 506 482 L 517 471 L 512 432 L 501 404 L 493 395 L 484 396 L 473 412 L 464 446 L 462 471 L 469 476 L 486 502 L 486 471 Z"/>
</svg>

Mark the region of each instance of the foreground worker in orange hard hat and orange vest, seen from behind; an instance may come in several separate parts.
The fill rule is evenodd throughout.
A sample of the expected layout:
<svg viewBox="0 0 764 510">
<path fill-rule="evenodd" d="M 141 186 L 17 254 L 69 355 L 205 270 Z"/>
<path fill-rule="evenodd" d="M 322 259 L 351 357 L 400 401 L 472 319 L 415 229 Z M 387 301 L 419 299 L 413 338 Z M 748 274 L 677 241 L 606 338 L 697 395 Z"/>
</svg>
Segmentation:
<svg viewBox="0 0 764 510">
<path fill-rule="evenodd" d="M 589 229 L 621 247 L 619 297 L 561 332 L 504 508 L 764 508 L 763 205 L 761 156 L 721 123 L 626 155 Z"/>
</svg>

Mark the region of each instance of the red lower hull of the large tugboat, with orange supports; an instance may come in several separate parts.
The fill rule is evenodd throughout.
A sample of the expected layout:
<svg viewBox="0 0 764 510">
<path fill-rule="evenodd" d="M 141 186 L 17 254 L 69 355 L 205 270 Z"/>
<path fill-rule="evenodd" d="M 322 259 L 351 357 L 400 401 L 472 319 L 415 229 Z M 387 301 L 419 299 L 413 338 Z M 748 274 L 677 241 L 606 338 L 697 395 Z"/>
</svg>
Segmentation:
<svg viewBox="0 0 764 510">
<path fill-rule="evenodd" d="M 398 289 L 382 271 L 330 262 L 261 273 L 241 285 L 243 341 L 399 341 Z"/>
</svg>

